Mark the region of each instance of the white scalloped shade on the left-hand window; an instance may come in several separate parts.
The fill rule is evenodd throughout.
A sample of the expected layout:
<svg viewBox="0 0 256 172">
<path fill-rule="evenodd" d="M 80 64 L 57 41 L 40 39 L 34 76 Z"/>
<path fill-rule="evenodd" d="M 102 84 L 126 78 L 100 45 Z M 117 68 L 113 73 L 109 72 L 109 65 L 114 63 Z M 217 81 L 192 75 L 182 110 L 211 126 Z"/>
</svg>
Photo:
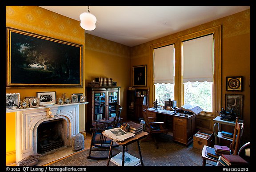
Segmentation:
<svg viewBox="0 0 256 172">
<path fill-rule="evenodd" d="M 173 84 L 174 45 L 154 49 L 154 83 Z"/>
</svg>

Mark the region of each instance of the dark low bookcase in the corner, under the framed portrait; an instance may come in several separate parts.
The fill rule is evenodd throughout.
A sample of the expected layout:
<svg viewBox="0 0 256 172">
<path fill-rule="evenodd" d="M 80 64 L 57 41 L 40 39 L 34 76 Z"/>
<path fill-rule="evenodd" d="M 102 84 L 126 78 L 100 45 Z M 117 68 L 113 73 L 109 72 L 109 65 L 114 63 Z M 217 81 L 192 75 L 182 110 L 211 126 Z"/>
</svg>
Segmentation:
<svg viewBox="0 0 256 172">
<path fill-rule="evenodd" d="M 127 90 L 127 118 L 130 120 L 139 120 L 140 118 L 142 118 L 141 105 L 144 101 L 144 97 L 141 97 L 141 95 L 144 95 L 144 97 L 146 97 L 146 103 L 148 105 L 147 89 Z"/>
</svg>

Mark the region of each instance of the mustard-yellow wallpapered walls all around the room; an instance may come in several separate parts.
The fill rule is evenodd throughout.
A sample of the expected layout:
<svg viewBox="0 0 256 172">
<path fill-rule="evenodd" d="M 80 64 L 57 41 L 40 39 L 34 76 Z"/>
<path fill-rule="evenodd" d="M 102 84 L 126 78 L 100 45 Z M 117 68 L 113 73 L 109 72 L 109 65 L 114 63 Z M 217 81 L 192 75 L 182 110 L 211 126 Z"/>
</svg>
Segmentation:
<svg viewBox="0 0 256 172">
<path fill-rule="evenodd" d="M 69 97 L 72 93 L 84 93 L 86 95 L 87 82 L 96 77 L 109 77 L 113 78 L 118 86 L 121 86 L 120 105 L 124 107 L 121 117 L 126 118 L 126 90 L 132 85 L 132 66 L 147 64 L 148 79 L 150 79 L 149 74 L 152 72 L 152 69 L 149 68 L 150 45 L 220 24 L 222 25 L 222 99 L 220 101 L 224 107 L 225 94 L 244 95 L 244 133 L 246 133 L 246 139 L 250 140 L 250 10 L 135 47 L 127 47 L 86 34 L 80 27 L 79 21 L 44 8 L 37 6 L 6 6 L 6 27 L 84 45 L 83 87 L 6 88 L 6 93 L 20 93 L 21 100 L 24 97 L 36 96 L 36 92 L 40 91 L 56 91 L 56 98 L 59 98 L 63 92 Z M 226 76 L 243 76 L 243 91 L 226 91 Z M 87 108 L 86 105 L 80 108 L 80 132 L 84 132 L 85 129 Z M 6 133 L 6 164 L 10 164 L 15 162 L 15 113 L 6 113 L 6 132 L 8 132 Z"/>
</svg>

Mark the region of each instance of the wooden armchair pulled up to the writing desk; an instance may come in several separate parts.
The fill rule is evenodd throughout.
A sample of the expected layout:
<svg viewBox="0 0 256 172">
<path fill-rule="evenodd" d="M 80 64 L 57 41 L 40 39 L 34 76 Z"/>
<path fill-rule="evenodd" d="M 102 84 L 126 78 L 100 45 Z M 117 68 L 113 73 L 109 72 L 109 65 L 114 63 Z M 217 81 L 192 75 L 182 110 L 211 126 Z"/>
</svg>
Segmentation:
<svg viewBox="0 0 256 172">
<path fill-rule="evenodd" d="M 148 137 L 153 138 L 156 145 L 156 149 L 158 149 L 155 134 L 158 134 L 158 133 L 167 134 L 168 130 L 164 128 L 164 122 L 156 122 L 156 117 L 148 117 L 148 107 L 144 104 L 142 104 L 142 114 L 145 121 L 145 130 L 149 134 Z"/>
</svg>

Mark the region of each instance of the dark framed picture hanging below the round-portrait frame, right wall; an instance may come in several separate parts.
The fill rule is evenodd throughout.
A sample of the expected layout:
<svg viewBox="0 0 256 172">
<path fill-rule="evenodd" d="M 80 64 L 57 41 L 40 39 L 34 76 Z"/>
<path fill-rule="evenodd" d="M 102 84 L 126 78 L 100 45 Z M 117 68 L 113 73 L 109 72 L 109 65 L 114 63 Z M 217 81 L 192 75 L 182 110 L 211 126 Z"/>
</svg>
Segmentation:
<svg viewBox="0 0 256 172">
<path fill-rule="evenodd" d="M 225 94 L 225 108 L 227 111 L 233 109 L 236 117 L 242 119 L 243 116 L 243 95 Z"/>
</svg>

